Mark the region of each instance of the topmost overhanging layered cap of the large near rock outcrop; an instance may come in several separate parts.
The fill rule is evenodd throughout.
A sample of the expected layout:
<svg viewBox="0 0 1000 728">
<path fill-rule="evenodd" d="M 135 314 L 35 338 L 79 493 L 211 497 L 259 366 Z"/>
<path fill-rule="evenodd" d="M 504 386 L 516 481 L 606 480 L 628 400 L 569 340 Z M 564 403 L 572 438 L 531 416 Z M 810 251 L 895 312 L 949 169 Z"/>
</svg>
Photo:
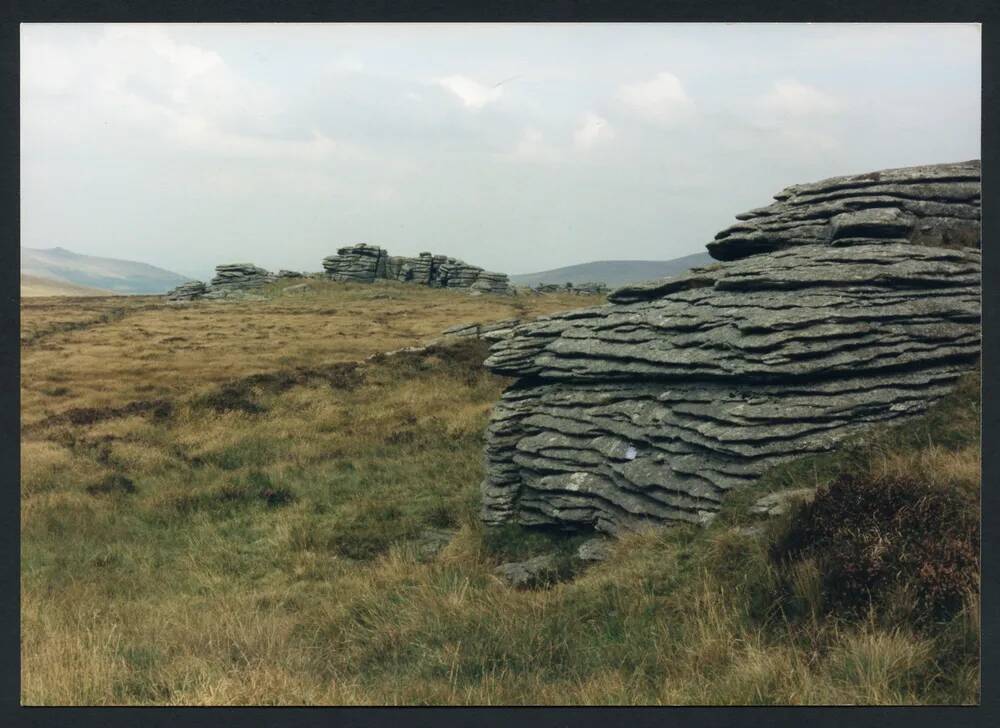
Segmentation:
<svg viewBox="0 0 1000 728">
<path fill-rule="evenodd" d="M 979 247 L 980 163 L 907 167 L 793 185 L 708 244 L 717 260 L 795 245 L 875 241 Z"/>
</svg>

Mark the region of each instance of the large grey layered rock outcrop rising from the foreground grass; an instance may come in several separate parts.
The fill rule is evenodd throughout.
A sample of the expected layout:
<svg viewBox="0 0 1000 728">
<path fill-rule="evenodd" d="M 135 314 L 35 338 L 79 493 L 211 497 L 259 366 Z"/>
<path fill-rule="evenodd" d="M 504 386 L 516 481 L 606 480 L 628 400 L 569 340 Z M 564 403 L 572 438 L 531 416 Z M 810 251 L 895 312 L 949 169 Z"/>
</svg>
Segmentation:
<svg viewBox="0 0 1000 728">
<path fill-rule="evenodd" d="M 967 184 L 954 170 L 971 165 L 943 167 L 879 174 Z M 753 219 L 784 214 L 792 196 Z M 815 204 L 817 215 L 796 210 L 804 224 L 826 214 L 828 200 Z M 884 228 L 847 246 L 788 245 L 794 226 L 771 240 L 762 225 L 753 245 L 725 251 L 742 258 L 516 327 L 486 361 L 517 381 L 487 430 L 484 520 L 615 535 L 705 522 L 767 468 L 924 411 L 980 351 L 973 218 L 937 217 L 935 246 L 872 235 Z"/>
</svg>

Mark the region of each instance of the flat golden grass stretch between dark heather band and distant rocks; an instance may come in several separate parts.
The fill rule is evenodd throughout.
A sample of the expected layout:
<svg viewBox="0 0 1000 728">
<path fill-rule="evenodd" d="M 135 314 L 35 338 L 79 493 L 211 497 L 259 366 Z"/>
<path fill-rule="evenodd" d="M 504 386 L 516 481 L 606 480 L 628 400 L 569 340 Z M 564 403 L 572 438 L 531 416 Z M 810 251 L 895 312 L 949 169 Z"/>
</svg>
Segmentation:
<svg viewBox="0 0 1000 728">
<path fill-rule="evenodd" d="M 601 302 L 566 294 L 472 297 L 388 282 L 308 285 L 309 293 L 294 296 L 281 295 L 276 286 L 269 300 L 253 302 L 25 301 L 22 424 L 72 408 L 175 397 L 254 372 L 357 361 L 424 343 L 458 323 L 535 317 Z"/>
</svg>

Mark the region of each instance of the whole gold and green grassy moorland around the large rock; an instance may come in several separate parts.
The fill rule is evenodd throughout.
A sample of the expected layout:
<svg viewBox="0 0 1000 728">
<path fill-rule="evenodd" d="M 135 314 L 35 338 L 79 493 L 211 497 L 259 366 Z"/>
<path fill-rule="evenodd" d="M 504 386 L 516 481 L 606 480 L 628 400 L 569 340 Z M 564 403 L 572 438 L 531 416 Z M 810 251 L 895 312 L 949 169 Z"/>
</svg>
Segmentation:
<svg viewBox="0 0 1000 728">
<path fill-rule="evenodd" d="M 766 555 L 782 524 L 754 535 L 741 508 L 847 467 L 977 486 L 975 382 L 921 422 L 775 471 L 708 529 L 641 534 L 572 581 L 515 591 L 494 566 L 552 537 L 476 520 L 482 431 L 505 384 L 478 365 L 482 346 L 325 365 L 427 338 L 439 317 L 580 299 L 386 290 L 396 298 L 328 286 L 256 308 L 146 304 L 66 331 L 51 328 L 58 312 L 26 314 L 50 333 L 24 353 L 24 702 L 976 700 L 974 609 L 929 635 L 794 617 L 776 608 L 788 596 Z M 163 361 L 183 346 L 195 361 Z M 110 393 L 91 382 L 105 366 Z M 312 371 L 212 396 L 226 377 L 296 367 Z M 143 386 L 170 407 L 113 409 Z M 88 407 L 101 414 L 67 417 Z M 431 558 L 428 528 L 457 529 Z"/>
</svg>

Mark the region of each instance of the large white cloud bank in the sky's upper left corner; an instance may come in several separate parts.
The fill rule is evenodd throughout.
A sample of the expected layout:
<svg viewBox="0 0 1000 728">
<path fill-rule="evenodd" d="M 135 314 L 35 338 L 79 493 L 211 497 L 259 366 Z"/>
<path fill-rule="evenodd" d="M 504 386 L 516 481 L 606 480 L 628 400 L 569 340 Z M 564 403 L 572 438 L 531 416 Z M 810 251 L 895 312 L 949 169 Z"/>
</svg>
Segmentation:
<svg viewBox="0 0 1000 728">
<path fill-rule="evenodd" d="M 73 113 L 55 112 L 67 108 Z M 25 44 L 23 124 L 50 143 L 102 137 L 230 158 L 321 160 L 343 151 L 315 131 L 301 140 L 275 135 L 281 108 L 275 90 L 163 27 L 110 25 L 78 46 Z"/>
</svg>

